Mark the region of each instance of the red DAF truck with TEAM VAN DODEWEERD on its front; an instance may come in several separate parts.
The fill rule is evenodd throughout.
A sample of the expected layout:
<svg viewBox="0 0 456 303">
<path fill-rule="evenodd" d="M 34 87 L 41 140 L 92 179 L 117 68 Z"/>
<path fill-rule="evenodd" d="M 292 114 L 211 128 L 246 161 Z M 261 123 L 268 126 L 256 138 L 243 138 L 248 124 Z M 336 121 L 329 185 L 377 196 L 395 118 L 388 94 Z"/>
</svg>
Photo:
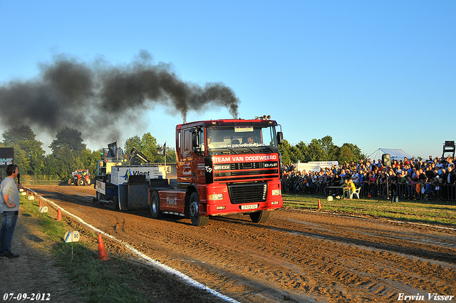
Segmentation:
<svg viewBox="0 0 456 303">
<path fill-rule="evenodd" d="M 150 179 L 152 217 L 181 215 L 202 226 L 209 216 L 245 213 L 266 222 L 283 204 L 277 125 L 266 116 L 177 125 L 177 186 Z"/>
</svg>

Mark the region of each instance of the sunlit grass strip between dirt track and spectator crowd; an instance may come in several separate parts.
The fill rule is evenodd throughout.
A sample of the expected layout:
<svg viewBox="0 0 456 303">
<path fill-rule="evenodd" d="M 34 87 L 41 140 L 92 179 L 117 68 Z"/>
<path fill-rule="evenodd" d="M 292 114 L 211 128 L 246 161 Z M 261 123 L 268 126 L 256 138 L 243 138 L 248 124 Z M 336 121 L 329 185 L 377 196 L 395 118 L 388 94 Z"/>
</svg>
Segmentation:
<svg viewBox="0 0 456 303">
<path fill-rule="evenodd" d="M 284 194 L 283 197 L 284 207 L 317 210 L 318 199 L 320 199 L 324 212 L 456 227 L 455 202 L 400 200 L 398 203 L 393 203 L 383 198 L 334 199 L 328 201 L 326 196 L 308 194 Z"/>
</svg>

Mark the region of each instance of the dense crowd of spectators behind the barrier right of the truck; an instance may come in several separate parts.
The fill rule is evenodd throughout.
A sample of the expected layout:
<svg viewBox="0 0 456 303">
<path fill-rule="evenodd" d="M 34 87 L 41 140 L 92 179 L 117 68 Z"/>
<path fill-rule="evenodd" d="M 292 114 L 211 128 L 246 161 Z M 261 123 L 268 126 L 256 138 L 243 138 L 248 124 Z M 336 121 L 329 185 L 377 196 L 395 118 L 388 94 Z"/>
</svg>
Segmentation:
<svg viewBox="0 0 456 303">
<path fill-rule="evenodd" d="M 365 197 L 456 200 L 454 160 L 432 156 L 427 160 L 403 158 L 392 160 L 385 167 L 380 159 L 364 159 L 320 171 L 299 171 L 293 164 L 283 165 L 282 190 L 339 195 L 346 180 L 352 180 Z"/>
</svg>

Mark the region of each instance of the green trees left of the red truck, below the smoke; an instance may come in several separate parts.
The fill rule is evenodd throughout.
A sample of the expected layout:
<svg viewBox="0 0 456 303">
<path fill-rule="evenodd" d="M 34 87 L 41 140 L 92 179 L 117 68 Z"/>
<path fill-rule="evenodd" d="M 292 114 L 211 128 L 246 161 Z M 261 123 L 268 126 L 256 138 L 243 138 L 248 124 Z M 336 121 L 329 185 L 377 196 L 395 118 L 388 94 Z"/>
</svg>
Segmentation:
<svg viewBox="0 0 456 303">
<path fill-rule="evenodd" d="M 14 148 L 14 164 L 19 166 L 21 176 L 46 180 L 68 180 L 73 171 L 82 169 L 95 176 L 97 161 L 101 159 L 103 149 L 107 148 L 89 150 L 83 143 L 81 132 L 68 127 L 58 131 L 49 145 L 51 153 L 48 154 L 43 149 L 44 143 L 36 139 L 36 134 L 28 125 L 9 128 L 2 136 L 4 140 L 0 142 L 0 148 Z M 145 133 L 142 138 L 128 138 L 124 146 L 125 153 L 135 147 L 151 162 L 165 162 L 164 155 L 157 155 L 161 145 L 157 145 L 157 140 L 150 133 Z M 166 158 L 168 163 L 176 161 L 173 148 L 167 148 Z"/>
</svg>

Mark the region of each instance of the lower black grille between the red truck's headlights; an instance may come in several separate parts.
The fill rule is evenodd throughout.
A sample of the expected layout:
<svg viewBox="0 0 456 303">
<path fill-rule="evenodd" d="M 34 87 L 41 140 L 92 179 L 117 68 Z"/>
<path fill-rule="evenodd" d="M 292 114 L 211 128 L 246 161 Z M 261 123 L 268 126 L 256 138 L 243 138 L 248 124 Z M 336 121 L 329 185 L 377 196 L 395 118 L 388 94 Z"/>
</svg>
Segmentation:
<svg viewBox="0 0 456 303">
<path fill-rule="evenodd" d="M 233 204 L 266 201 L 267 183 L 243 183 L 228 185 L 229 198 Z"/>
</svg>

